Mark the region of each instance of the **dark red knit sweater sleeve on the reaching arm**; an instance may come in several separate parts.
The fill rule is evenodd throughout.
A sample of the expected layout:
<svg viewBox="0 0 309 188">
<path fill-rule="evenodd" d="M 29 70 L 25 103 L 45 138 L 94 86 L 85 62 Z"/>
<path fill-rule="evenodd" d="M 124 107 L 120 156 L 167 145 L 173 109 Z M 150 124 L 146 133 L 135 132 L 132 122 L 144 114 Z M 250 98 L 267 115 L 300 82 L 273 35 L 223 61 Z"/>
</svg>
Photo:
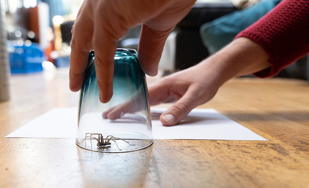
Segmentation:
<svg viewBox="0 0 309 188">
<path fill-rule="evenodd" d="M 284 0 L 240 32 L 269 55 L 271 67 L 255 76 L 270 77 L 309 52 L 309 0 Z"/>
</svg>

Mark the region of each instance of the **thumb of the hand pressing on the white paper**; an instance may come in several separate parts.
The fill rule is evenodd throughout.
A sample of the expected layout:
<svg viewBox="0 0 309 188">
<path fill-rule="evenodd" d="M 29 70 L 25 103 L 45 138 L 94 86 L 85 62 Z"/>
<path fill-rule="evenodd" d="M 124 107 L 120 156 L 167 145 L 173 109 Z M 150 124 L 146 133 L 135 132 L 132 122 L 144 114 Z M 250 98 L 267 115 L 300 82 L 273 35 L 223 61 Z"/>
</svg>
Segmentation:
<svg viewBox="0 0 309 188">
<path fill-rule="evenodd" d="M 164 126 L 176 125 L 184 119 L 188 113 L 198 104 L 193 100 L 193 97 L 184 95 L 173 106 L 168 108 L 160 116 L 160 121 Z"/>
</svg>

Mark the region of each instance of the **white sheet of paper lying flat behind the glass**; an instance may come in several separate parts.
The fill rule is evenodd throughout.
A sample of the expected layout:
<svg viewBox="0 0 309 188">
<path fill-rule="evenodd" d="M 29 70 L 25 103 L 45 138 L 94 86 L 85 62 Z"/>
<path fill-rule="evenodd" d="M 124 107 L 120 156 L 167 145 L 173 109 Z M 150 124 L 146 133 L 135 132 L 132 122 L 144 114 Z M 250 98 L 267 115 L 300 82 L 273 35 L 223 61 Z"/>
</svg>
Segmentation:
<svg viewBox="0 0 309 188">
<path fill-rule="evenodd" d="M 178 125 L 159 121 L 165 108 L 151 108 L 154 139 L 255 140 L 266 141 L 214 109 L 195 108 Z M 6 137 L 75 138 L 77 108 L 53 108 Z"/>
</svg>

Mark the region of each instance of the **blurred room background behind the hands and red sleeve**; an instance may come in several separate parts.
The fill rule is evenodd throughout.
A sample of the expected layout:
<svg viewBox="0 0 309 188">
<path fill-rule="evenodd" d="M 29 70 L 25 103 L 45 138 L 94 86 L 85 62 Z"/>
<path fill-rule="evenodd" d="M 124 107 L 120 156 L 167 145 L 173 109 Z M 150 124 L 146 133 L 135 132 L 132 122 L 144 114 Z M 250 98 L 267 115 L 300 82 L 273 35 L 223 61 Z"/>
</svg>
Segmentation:
<svg viewBox="0 0 309 188">
<path fill-rule="evenodd" d="M 159 68 L 169 74 L 193 66 L 231 42 L 238 32 L 280 0 L 198 0 L 173 29 Z M 3 0 L 6 49 L 11 74 L 69 67 L 71 28 L 83 0 Z M 141 25 L 129 30 L 119 48 L 137 49 Z M 304 57 L 279 74 L 308 79 Z"/>
</svg>

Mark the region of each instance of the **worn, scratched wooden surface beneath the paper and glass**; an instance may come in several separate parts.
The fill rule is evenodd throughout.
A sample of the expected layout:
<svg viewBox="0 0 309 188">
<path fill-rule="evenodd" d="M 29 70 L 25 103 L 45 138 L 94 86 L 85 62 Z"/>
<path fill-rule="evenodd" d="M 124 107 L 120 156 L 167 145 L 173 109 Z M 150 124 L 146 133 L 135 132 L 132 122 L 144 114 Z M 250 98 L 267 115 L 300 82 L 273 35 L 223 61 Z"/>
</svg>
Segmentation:
<svg viewBox="0 0 309 188">
<path fill-rule="evenodd" d="M 307 81 L 237 78 L 199 106 L 268 141 L 155 140 L 129 153 L 91 152 L 75 139 L 4 138 L 51 108 L 78 105 L 67 68 L 10 82 L 11 100 L 0 103 L 1 188 L 309 187 Z"/>
</svg>

